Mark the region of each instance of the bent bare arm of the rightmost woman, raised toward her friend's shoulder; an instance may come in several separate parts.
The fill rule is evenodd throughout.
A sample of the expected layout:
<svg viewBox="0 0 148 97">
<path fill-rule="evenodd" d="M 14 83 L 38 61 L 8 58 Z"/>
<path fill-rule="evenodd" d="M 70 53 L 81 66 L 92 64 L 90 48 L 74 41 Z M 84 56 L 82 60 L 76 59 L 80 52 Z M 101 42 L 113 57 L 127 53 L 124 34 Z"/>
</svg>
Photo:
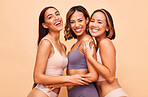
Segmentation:
<svg viewBox="0 0 148 97">
<path fill-rule="evenodd" d="M 103 78 L 105 78 L 109 83 L 112 83 L 115 79 L 116 70 L 116 51 L 112 42 L 108 39 L 104 39 L 100 42 L 99 49 L 103 64 L 99 63 L 92 57 L 93 52 L 88 45 L 89 43 L 87 42 L 85 44 L 85 54 L 89 62 Z"/>
</svg>

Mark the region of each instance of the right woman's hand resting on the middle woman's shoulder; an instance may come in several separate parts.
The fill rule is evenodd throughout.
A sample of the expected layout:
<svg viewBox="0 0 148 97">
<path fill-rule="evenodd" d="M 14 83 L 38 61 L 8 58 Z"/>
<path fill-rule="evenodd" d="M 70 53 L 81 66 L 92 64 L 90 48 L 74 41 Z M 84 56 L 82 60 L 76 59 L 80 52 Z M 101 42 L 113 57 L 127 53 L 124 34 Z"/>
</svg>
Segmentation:
<svg viewBox="0 0 148 97">
<path fill-rule="evenodd" d="M 83 43 L 84 45 L 84 55 L 88 58 L 88 57 L 93 57 L 93 47 L 94 44 L 90 47 L 90 44 L 93 42 L 92 39 L 86 41 L 85 43 Z"/>
</svg>

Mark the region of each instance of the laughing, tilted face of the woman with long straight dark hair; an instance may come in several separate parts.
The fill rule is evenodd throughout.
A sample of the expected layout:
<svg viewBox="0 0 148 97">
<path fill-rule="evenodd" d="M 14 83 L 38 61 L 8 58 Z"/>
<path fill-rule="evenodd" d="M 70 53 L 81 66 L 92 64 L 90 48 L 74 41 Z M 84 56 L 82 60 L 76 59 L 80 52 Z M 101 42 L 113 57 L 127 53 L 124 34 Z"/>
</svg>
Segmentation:
<svg viewBox="0 0 148 97">
<path fill-rule="evenodd" d="M 43 27 L 48 29 L 49 32 L 59 32 L 63 28 L 63 20 L 60 13 L 55 8 L 49 8 L 44 15 L 45 23 L 42 23 Z"/>
</svg>

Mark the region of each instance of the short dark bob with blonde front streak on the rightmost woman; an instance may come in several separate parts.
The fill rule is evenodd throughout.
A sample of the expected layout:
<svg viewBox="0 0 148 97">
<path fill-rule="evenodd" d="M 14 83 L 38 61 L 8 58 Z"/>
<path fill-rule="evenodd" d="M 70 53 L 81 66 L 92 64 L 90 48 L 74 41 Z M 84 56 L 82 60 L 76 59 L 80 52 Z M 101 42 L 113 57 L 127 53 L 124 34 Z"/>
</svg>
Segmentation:
<svg viewBox="0 0 148 97">
<path fill-rule="evenodd" d="M 109 38 L 110 40 L 115 39 L 115 29 L 114 29 L 114 23 L 113 23 L 111 14 L 107 10 L 102 8 L 102 9 L 95 10 L 92 13 L 91 18 L 96 12 L 102 12 L 106 17 L 106 23 L 107 23 L 107 26 L 109 27 L 109 31 L 106 31 L 106 37 Z"/>
</svg>

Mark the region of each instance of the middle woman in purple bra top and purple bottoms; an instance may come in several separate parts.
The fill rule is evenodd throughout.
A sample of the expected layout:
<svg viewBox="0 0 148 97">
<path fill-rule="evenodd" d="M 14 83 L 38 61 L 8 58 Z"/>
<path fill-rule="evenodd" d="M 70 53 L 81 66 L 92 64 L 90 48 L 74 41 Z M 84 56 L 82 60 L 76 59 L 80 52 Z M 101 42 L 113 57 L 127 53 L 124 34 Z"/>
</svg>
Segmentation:
<svg viewBox="0 0 148 97">
<path fill-rule="evenodd" d="M 75 38 L 77 42 L 71 47 L 68 53 L 67 75 L 86 74 L 91 75 L 89 80 L 92 82 L 98 79 L 98 73 L 88 62 L 84 55 L 83 43 L 89 39 L 90 36 L 87 27 L 90 17 L 87 10 L 83 6 L 73 6 L 66 14 L 65 25 L 65 40 Z M 92 44 L 91 44 L 92 45 Z M 96 50 L 93 51 L 96 53 Z M 96 58 L 96 54 L 93 56 Z M 52 89 L 58 86 L 67 86 L 67 84 L 50 85 Z M 99 97 L 97 89 L 90 82 L 88 85 L 68 85 L 68 97 Z"/>
</svg>

